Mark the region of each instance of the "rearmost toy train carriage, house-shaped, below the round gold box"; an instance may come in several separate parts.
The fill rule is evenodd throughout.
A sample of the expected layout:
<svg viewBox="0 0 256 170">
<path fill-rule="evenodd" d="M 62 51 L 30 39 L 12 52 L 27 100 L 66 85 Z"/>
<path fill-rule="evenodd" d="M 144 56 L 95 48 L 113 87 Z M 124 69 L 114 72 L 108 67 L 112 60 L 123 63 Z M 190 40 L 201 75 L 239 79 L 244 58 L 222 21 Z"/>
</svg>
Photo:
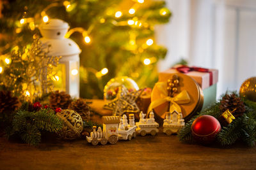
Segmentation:
<svg viewBox="0 0 256 170">
<path fill-rule="evenodd" d="M 172 113 L 166 113 L 166 118 L 164 119 L 163 132 L 167 135 L 177 134 L 179 130 L 184 127 L 185 122 L 182 118 L 182 113 L 178 113 L 174 110 Z"/>
</svg>

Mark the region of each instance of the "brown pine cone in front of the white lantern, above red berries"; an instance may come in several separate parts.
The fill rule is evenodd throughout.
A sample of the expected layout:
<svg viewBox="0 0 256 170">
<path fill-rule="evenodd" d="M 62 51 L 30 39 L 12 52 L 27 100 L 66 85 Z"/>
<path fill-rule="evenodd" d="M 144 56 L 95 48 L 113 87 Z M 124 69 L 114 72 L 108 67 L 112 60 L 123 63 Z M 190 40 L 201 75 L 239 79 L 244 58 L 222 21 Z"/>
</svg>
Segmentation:
<svg viewBox="0 0 256 170">
<path fill-rule="evenodd" d="M 51 93 L 50 96 L 50 107 L 55 110 L 56 108 L 61 108 L 63 110 L 67 109 L 72 102 L 71 96 L 66 92 L 59 92 L 58 90 Z"/>
</svg>

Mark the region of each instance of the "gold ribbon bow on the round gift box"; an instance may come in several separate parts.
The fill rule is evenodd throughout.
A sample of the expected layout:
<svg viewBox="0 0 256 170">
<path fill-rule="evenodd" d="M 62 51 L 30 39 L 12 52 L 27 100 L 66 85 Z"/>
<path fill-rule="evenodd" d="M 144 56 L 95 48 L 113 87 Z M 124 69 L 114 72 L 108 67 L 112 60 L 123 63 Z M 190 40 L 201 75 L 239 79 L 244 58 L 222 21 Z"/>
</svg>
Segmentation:
<svg viewBox="0 0 256 170">
<path fill-rule="evenodd" d="M 175 97 L 168 96 L 166 81 L 156 83 L 156 88 L 157 88 L 157 90 L 159 90 L 161 98 L 150 103 L 150 105 L 148 107 L 147 115 L 151 110 L 153 110 L 157 106 L 160 106 L 161 104 L 166 103 L 166 102 L 170 102 L 170 112 L 171 113 L 174 110 L 176 110 L 178 113 L 180 113 L 181 108 L 180 108 L 179 104 L 186 104 L 186 103 L 190 102 L 190 97 L 186 90 L 183 90 Z"/>
</svg>

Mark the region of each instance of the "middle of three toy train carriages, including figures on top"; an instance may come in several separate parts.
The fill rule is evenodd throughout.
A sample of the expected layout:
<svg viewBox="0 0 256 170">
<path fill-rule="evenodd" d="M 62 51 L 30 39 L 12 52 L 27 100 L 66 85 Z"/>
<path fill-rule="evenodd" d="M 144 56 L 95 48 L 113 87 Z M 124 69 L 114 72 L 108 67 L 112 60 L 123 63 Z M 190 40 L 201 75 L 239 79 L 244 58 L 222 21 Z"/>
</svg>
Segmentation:
<svg viewBox="0 0 256 170">
<path fill-rule="evenodd" d="M 151 134 L 152 136 L 155 136 L 159 130 L 157 127 L 159 127 L 159 124 L 155 122 L 154 113 L 153 111 L 150 111 L 149 118 L 145 118 L 145 114 L 141 111 L 140 112 L 140 122 L 136 122 L 137 129 L 136 132 L 140 134 L 141 136 L 145 136 L 146 134 Z"/>
</svg>

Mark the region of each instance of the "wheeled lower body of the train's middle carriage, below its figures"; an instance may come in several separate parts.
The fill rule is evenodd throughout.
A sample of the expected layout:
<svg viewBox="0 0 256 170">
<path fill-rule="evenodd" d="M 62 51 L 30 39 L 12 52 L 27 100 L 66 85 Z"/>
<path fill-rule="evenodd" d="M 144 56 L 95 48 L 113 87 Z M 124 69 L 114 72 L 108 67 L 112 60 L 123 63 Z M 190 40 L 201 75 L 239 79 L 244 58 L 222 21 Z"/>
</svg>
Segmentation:
<svg viewBox="0 0 256 170">
<path fill-rule="evenodd" d="M 151 134 L 152 136 L 155 136 L 159 130 L 157 127 L 159 127 L 159 124 L 154 122 L 153 124 L 137 124 L 138 128 L 136 129 L 136 132 L 140 134 L 141 136 L 145 136 L 146 134 Z"/>
</svg>

